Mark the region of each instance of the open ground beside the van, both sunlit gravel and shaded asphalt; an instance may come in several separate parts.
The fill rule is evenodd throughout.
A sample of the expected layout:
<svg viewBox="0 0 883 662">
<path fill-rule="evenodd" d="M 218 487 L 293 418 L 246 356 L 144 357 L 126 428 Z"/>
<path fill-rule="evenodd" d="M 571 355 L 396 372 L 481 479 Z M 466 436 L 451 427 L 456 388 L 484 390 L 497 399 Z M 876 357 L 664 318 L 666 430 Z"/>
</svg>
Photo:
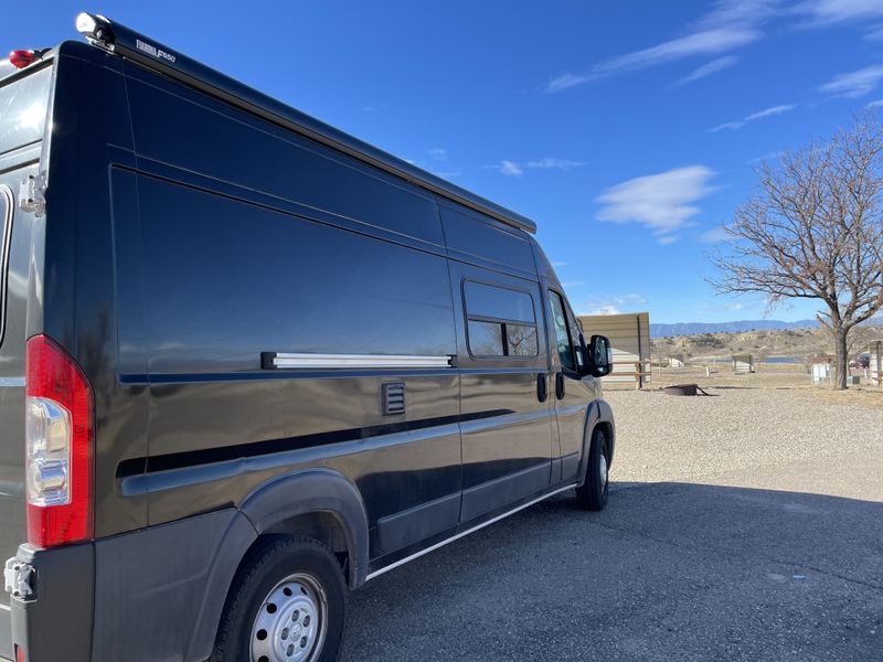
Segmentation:
<svg viewBox="0 0 883 662">
<path fill-rule="evenodd" d="M 880 412 L 717 393 L 608 394 L 607 510 L 564 493 L 369 583 L 343 660 L 883 661 Z"/>
</svg>

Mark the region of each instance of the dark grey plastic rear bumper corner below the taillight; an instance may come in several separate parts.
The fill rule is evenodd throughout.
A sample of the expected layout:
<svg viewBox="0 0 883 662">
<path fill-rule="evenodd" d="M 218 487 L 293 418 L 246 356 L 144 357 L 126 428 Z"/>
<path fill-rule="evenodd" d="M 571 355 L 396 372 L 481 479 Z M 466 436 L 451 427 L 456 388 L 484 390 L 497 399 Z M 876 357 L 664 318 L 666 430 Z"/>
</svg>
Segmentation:
<svg viewBox="0 0 883 662">
<path fill-rule="evenodd" d="M 26 662 L 205 660 L 255 537 L 227 509 L 82 545 L 22 545 L 36 579 L 32 598 L 10 600 L 12 642 Z"/>
</svg>

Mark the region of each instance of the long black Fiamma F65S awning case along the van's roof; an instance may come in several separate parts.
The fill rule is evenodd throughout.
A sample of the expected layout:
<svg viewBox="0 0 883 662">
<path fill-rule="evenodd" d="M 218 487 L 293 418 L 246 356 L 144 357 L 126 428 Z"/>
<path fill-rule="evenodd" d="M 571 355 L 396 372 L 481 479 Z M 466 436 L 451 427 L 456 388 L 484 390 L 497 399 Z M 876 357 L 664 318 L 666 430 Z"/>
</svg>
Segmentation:
<svg viewBox="0 0 883 662">
<path fill-rule="evenodd" d="M 99 14 L 81 13 L 76 29 L 89 43 L 220 98 L 267 121 L 398 177 L 421 189 L 488 214 L 502 223 L 536 233 L 536 224 L 521 214 L 477 195 L 440 177 L 336 129 L 267 94 L 240 83 L 187 55 Z"/>
</svg>

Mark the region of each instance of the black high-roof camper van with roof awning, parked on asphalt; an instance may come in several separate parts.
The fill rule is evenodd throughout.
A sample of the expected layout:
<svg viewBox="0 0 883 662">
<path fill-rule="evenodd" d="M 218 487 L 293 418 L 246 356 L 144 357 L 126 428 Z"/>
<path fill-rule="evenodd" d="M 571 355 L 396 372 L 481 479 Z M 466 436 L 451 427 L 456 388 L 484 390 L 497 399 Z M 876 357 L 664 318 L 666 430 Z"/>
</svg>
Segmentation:
<svg viewBox="0 0 883 662">
<path fill-rule="evenodd" d="M 600 509 L 531 221 L 103 17 L 0 62 L 0 656 L 333 660 L 348 588 Z"/>
</svg>

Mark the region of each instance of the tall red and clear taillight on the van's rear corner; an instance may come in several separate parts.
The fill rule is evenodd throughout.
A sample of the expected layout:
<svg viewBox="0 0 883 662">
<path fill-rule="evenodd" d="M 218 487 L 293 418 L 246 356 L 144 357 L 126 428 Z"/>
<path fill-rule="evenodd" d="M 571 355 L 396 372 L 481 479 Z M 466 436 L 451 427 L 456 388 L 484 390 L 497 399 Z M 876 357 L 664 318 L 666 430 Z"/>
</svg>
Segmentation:
<svg viewBox="0 0 883 662">
<path fill-rule="evenodd" d="M 45 335 L 28 341 L 28 540 L 39 547 L 93 536 L 92 388 Z"/>
</svg>

